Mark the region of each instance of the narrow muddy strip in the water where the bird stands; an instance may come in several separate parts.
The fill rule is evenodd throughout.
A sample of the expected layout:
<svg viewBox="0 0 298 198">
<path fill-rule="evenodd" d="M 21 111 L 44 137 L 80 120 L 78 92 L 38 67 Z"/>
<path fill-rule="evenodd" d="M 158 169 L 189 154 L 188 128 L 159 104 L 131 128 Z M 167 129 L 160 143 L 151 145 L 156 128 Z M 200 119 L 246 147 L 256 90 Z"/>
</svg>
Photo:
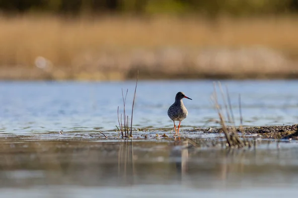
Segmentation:
<svg viewBox="0 0 298 198">
<path fill-rule="evenodd" d="M 231 128 L 229 128 L 231 129 Z M 235 130 L 241 135 L 241 132 L 246 138 L 258 138 L 258 139 L 271 139 L 271 140 L 298 140 L 298 124 L 295 125 L 283 125 L 283 126 L 255 126 L 255 127 L 243 127 L 240 129 L 236 127 Z M 207 136 L 202 136 L 202 133 Z M 74 142 L 93 142 L 93 141 L 119 141 L 119 140 L 156 140 L 156 139 L 172 139 L 175 134 L 173 129 L 149 129 L 138 128 L 133 130 L 133 138 L 122 138 L 121 133 L 117 130 L 108 131 L 67 131 L 63 133 L 59 131 L 36 133 L 35 135 L 15 135 L 10 133 L 2 133 L 5 139 L 1 141 L 6 142 L 8 139 L 14 141 L 32 141 L 32 140 L 51 140 L 51 141 L 74 141 Z M 208 134 L 216 134 L 216 136 L 210 136 Z M 218 136 L 223 134 L 223 136 Z M 180 136 L 182 139 L 192 140 L 205 140 L 225 139 L 224 133 L 221 127 L 208 127 L 208 128 L 195 128 L 195 129 L 181 129 Z M 8 139 L 7 139 L 8 138 Z M 242 138 L 242 136 L 240 136 Z"/>
</svg>

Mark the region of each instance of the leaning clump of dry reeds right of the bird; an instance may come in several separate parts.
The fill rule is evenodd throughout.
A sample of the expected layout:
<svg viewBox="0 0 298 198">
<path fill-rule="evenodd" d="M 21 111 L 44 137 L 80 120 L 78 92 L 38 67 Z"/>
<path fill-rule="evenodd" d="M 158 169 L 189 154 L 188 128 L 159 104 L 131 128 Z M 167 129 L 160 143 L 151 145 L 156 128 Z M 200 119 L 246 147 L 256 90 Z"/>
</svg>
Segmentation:
<svg viewBox="0 0 298 198">
<path fill-rule="evenodd" d="M 241 112 L 241 97 L 239 95 L 238 102 L 239 102 L 239 113 L 240 113 L 240 132 L 242 133 L 242 139 L 238 136 L 237 130 L 235 128 L 235 120 L 234 115 L 232 111 L 231 101 L 228 94 L 228 89 L 226 87 L 226 93 L 224 94 L 222 84 L 218 82 L 218 87 L 221 91 L 222 99 L 223 99 L 223 105 L 220 105 L 218 95 L 217 95 L 217 84 L 214 83 L 214 94 L 213 94 L 213 102 L 216 106 L 217 112 L 219 114 L 220 124 L 222 126 L 222 131 L 224 132 L 227 145 L 228 147 L 236 147 L 236 148 L 242 148 L 245 146 L 251 147 L 251 142 L 246 140 L 242 133 L 242 112 Z M 222 108 L 224 106 L 224 108 Z M 226 114 L 226 118 L 224 117 L 224 111 Z"/>
</svg>

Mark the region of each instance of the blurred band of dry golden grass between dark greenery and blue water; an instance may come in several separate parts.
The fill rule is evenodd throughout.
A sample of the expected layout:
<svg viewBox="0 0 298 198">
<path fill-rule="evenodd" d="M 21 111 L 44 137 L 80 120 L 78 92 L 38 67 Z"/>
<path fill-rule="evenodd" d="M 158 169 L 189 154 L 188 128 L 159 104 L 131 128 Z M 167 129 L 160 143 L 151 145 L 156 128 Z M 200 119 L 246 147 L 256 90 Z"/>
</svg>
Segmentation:
<svg viewBox="0 0 298 198">
<path fill-rule="evenodd" d="M 298 76 L 296 16 L 23 15 L 0 17 L 0 30 L 0 79 Z"/>
</svg>

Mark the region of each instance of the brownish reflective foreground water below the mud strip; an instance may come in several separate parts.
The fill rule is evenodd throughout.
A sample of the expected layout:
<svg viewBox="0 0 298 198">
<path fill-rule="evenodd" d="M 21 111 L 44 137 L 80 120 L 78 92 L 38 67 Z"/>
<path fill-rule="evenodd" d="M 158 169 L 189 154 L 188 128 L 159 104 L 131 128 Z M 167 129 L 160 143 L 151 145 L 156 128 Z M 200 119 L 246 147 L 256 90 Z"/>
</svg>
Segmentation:
<svg viewBox="0 0 298 198">
<path fill-rule="evenodd" d="M 296 194 L 298 142 L 261 141 L 250 149 L 222 147 L 221 142 L 204 139 L 6 138 L 0 142 L 0 193 L 13 198 Z"/>
</svg>

